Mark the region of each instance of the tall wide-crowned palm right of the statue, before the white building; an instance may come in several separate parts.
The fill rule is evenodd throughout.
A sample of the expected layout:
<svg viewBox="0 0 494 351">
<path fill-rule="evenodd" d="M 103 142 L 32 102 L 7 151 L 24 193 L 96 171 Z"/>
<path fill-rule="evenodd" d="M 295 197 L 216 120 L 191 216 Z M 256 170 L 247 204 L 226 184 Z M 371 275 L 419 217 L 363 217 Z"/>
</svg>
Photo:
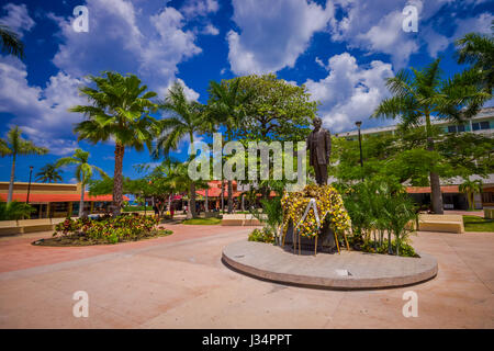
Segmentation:
<svg viewBox="0 0 494 351">
<path fill-rule="evenodd" d="M 424 116 L 429 151 L 434 151 L 433 116 L 462 123 L 472 117 L 489 99 L 489 94 L 469 83 L 471 80 L 468 76 L 456 75 L 452 79 L 442 80 L 439 61 L 436 59 L 423 70 L 412 68 L 413 77 L 402 69 L 395 77 L 388 78 L 386 87 L 393 97 L 384 99 L 372 115 L 400 118 L 404 129 L 420 125 Z M 429 178 L 433 211 L 442 214 L 439 176 L 430 171 Z"/>
</svg>

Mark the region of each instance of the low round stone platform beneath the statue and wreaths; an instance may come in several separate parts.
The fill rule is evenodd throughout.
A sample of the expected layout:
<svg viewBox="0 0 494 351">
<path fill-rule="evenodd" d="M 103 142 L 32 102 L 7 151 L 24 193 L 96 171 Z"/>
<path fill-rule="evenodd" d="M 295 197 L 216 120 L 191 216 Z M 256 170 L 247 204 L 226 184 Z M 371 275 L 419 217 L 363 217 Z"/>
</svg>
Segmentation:
<svg viewBox="0 0 494 351">
<path fill-rule="evenodd" d="M 332 290 L 384 288 L 416 284 L 437 274 L 434 257 L 420 258 L 346 251 L 295 254 L 278 246 L 238 241 L 223 249 L 223 261 L 255 278 Z"/>
</svg>

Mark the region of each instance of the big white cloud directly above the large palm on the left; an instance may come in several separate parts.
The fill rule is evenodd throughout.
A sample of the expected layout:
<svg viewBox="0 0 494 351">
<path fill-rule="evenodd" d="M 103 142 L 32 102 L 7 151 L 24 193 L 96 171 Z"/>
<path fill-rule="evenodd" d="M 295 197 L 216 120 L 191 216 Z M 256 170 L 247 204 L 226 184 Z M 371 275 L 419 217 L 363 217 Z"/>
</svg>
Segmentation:
<svg viewBox="0 0 494 351">
<path fill-rule="evenodd" d="M 87 7 L 89 33 L 72 31 L 70 19 L 58 20 L 63 44 L 54 64 L 74 77 L 111 69 L 136 73 L 158 90 L 175 80 L 179 63 L 201 53 L 173 8 L 136 9 L 125 0 L 88 0 Z"/>
</svg>

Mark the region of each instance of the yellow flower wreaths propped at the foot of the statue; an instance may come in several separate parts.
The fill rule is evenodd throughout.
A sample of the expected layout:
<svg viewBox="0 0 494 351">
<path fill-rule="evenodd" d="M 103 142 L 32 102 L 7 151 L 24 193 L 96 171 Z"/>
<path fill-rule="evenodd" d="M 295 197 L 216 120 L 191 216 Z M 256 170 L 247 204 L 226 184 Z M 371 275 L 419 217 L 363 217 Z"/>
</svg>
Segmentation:
<svg viewBox="0 0 494 351">
<path fill-rule="evenodd" d="M 319 223 L 315 217 L 314 208 L 310 207 L 306 217 L 302 220 L 311 199 L 315 200 Z M 312 238 L 319 233 L 324 220 L 335 227 L 337 231 L 350 228 L 350 217 L 344 207 L 341 196 L 332 185 L 310 184 L 300 192 L 285 192 L 281 199 L 283 207 L 283 233 L 287 233 L 290 219 L 303 237 Z M 301 222 L 302 220 L 302 222 Z"/>
</svg>

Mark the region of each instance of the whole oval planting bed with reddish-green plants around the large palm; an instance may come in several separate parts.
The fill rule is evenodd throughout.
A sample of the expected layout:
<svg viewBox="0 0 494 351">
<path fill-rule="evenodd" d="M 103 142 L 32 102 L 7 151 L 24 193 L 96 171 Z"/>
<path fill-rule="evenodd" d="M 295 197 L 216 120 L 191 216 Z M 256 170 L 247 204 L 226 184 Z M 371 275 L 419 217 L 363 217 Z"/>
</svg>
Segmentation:
<svg viewBox="0 0 494 351">
<path fill-rule="evenodd" d="M 109 217 L 101 220 L 67 218 L 55 227 L 54 237 L 37 240 L 34 245 L 86 246 L 137 241 L 170 235 L 171 230 L 158 227 L 159 219 L 150 216 Z"/>
</svg>

